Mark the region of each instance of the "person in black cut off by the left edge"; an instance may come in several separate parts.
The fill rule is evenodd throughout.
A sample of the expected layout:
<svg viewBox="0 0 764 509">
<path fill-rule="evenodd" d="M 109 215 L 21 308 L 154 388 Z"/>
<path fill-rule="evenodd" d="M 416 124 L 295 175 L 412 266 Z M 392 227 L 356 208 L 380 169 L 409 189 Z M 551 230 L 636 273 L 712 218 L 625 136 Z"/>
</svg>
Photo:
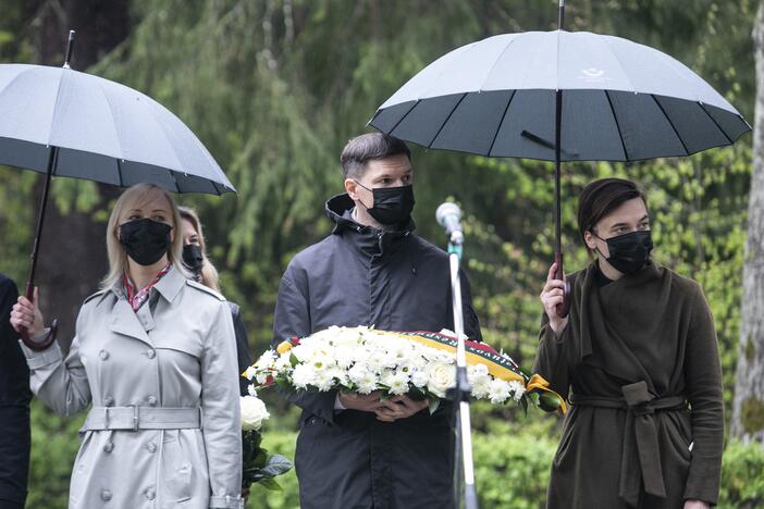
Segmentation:
<svg viewBox="0 0 764 509">
<path fill-rule="evenodd" d="M 22 509 L 29 470 L 29 370 L 11 326 L 19 291 L 0 274 L 0 509 Z"/>
</svg>

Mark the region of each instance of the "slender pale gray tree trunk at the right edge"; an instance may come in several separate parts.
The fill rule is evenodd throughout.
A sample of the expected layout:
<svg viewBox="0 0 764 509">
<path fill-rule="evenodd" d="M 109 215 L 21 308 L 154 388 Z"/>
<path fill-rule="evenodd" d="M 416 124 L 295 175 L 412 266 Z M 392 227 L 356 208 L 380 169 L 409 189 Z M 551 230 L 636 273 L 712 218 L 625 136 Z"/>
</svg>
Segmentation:
<svg viewBox="0 0 764 509">
<path fill-rule="evenodd" d="M 764 442 L 764 1 L 753 28 L 756 104 L 732 435 Z"/>
</svg>

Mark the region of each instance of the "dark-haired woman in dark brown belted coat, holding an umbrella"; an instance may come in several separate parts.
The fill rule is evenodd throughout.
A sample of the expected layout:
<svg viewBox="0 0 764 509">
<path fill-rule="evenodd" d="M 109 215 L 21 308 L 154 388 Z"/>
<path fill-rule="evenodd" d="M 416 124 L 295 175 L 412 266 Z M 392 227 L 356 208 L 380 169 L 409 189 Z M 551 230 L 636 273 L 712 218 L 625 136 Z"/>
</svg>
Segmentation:
<svg viewBox="0 0 764 509">
<path fill-rule="evenodd" d="M 547 508 L 715 505 L 724 438 L 714 323 L 698 283 L 657 265 L 644 195 L 606 178 L 580 196 L 595 260 L 571 274 L 570 314 L 552 265 L 533 372 L 572 410 L 554 457 Z"/>
</svg>

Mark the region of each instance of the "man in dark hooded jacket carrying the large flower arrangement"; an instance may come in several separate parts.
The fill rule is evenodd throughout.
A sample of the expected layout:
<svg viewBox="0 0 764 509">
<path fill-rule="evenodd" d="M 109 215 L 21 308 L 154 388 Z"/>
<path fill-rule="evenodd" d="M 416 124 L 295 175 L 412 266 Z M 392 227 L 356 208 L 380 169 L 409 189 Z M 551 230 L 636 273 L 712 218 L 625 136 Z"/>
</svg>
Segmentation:
<svg viewBox="0 0 764 509">
<path fill-rule="evenodd" d="M 410 152 L 379 133 L 348 141 L 347 194 L 326 203 L 332 234 L 299 252 L 279 288 L 273 344 L 331 325 L 453 328 L 447 254 L 416 236 Z M 480 339 L 461 275 L 465 331 Z M 303 408 L 295 465 L 303 509 L 454 507 L 452 406 L 372 393 L 291 395 Z"/>
</svg>

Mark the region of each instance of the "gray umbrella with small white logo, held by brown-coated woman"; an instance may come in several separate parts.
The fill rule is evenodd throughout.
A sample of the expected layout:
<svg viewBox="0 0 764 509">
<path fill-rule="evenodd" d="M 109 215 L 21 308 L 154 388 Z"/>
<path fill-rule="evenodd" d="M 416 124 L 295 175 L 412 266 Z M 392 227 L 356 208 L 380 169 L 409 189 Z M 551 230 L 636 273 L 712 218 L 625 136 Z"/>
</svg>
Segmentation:
<svg viewBox="0 0 764 509">
<path fill-rule="evenodd" d="M 563 13 L 560 1 L 560 27 Z M 689 156 L 751 131 L 671 57 L 619 37 L 562 29 L 457 48 L 401 87 L 369 124 L 428 148 L 555 161 L 560 280 L 560 161 Z"/>
</svg>

